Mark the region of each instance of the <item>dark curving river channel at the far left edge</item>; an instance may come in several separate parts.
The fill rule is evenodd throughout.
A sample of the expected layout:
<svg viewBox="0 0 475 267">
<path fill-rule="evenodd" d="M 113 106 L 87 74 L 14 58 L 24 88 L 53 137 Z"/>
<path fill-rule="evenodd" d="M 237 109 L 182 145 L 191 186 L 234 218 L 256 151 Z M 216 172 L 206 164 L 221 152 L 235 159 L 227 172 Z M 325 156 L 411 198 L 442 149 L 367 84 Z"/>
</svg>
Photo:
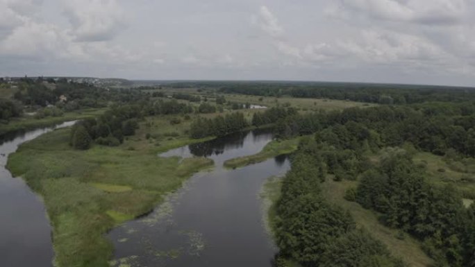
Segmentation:
<svg viewBox="0 0 475 267">
<path fill-rule="evenodd" d="M 51 227 L 42 200 L 20 178 L 12 178 L 5 166 L 19 144 L 74 121 L 10 136 L 0 144 L 0 266 L 51 267 Z"/>
</svg>

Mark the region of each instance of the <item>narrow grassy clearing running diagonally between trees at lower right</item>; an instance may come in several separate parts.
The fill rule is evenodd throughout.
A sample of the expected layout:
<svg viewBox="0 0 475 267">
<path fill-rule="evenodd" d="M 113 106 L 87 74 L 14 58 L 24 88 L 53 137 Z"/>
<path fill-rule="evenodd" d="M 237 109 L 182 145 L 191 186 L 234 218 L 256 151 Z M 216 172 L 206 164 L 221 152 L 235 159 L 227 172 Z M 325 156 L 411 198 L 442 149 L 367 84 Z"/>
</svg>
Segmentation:
<svg viewBox="0 0 475 267">
<path fill-rule="evenodd" d="M 385 227 L 378 221 L 376 213 L 369 209 L 361 207 L 358 203 L 349 202 L 344 199 L 344 193 L 351 187 L 356 187 L 358 182 L 342 181 L 334 182 L 327 179 L 322 184 L 322 193 L 328 202 L 338 205 L 350 212 L 358 227 L 364 227 L 376 239 L 383 242 L 394 257 L 399 257 L 412 267 L 431 266 L 433 264 L 430 259 L 420 248 L 420 244 L 412 237 L 404 234 L 404 238 L 400 238 L 398 230 Z"/>
</svg>

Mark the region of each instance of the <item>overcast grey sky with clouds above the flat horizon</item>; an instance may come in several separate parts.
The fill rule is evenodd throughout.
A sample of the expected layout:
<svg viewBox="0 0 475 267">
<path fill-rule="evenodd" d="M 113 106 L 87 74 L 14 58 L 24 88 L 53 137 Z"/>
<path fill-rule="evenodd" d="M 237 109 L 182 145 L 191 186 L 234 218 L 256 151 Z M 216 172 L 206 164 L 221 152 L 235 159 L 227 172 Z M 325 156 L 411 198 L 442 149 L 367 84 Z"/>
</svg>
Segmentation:
<svg viewBox="0 0 475 267">
<path fill-rule="evenodd" d="M 474 0 L 0 0 L 0 76 L 475 86 Z"/>
</svg>

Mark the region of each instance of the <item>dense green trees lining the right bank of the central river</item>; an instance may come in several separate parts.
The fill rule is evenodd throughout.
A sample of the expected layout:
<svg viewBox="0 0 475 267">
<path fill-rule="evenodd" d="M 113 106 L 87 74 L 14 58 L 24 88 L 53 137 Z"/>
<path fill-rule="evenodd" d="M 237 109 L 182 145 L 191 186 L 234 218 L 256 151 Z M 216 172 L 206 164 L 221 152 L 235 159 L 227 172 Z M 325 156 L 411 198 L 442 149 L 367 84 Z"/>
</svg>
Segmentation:
<svg viewBox="0 0 475 267">
<path fill-rule="evenodd" d="M 282 259 L 288 258 L 302 266 L 404 266 L 367 230 L 357 229 L 351 214 L 322 196 L 320 184 L 328 168 L 323 157 L 317 141 L 310 138 L 292 155 L 292 168 L 276 203 L 278 266 L 285 266 Z"/>
</svg>

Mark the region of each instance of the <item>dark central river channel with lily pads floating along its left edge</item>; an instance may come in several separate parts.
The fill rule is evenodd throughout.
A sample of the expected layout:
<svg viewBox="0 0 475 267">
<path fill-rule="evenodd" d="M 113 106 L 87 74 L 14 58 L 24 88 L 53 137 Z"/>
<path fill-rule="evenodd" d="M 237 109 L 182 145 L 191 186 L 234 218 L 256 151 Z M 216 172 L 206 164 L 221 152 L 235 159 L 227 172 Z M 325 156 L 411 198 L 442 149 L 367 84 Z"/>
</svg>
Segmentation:
<svg viewBox="0 0 475 267">
<path fill-rule="evenodd" d="M 259 192 L 272 175 L 290 168 L 276 157 L 241 169 L 223 168 L 225 160 L 258 153 L 268 132 L 247 132 L 169 150 L 161 157 L 204 156 L 215 161 L 197 173 L 156 209 L 109 233 L 115 246 L 113 266 L 272 266 L 277 252 L 263 223 Z"/>
</svg>

